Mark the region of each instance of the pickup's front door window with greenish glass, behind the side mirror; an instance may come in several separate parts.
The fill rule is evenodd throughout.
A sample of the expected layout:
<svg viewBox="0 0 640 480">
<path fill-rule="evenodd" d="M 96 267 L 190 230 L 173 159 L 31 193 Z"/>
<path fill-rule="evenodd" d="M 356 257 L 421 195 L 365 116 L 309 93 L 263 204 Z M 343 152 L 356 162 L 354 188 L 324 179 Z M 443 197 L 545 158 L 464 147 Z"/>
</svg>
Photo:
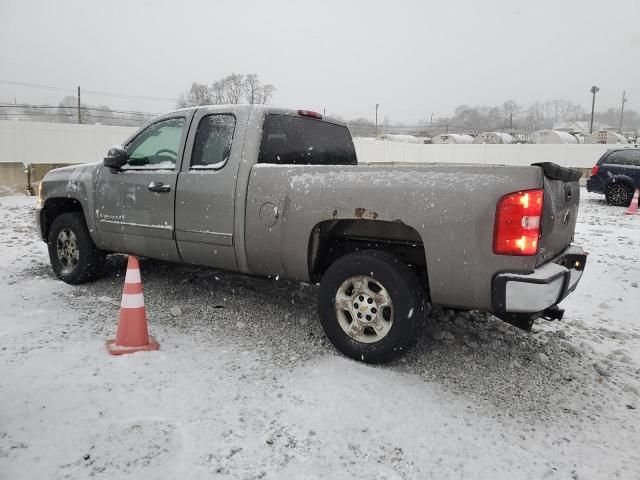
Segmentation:
<svg viewBox="0 0 640 480">
<path fill-rule="evenodd" d="M 184 118 L 171 118 L 154 123 L 127 145 L 129 160 L 123 170 L 173 170 Z"/>
</svg>

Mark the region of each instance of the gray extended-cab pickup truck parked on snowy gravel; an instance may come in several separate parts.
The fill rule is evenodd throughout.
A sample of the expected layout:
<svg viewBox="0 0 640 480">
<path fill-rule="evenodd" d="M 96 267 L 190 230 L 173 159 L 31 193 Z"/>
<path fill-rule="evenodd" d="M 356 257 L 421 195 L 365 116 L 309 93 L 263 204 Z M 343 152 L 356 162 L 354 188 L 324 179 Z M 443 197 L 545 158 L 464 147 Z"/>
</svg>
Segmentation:
<svg viewBox="0 0 640 480">
<path fill-rule="evenodd" d="M 96 278 L 112 252 L 319 282 L 329 339 L 382 362 L 416 340 L 427 302 L 525 329 L 560 317 L 586 261 L 571 245 L 578 177 L 554 164 L 359 165 L 343 122 L 205 106 L 154 119 L 101 163 L 52 170 L 36 218 L 68 283 Z"/>
</svg>

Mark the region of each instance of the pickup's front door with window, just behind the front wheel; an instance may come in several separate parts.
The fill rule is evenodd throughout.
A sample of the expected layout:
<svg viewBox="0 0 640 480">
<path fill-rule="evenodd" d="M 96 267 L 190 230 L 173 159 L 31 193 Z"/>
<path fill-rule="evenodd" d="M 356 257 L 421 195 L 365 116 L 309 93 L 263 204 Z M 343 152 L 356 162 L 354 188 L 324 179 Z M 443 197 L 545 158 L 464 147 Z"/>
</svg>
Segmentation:
<svg viewBox="0 0 640 480">
<path fill-rule="evenodd" d="M 187 127 L 192 112 L 163 118 L 125 147 L 119 170 L 102 167 L 95 214 L 100 247 L 180 261 L 174 238 L 174 202 Z"/>
</svg>

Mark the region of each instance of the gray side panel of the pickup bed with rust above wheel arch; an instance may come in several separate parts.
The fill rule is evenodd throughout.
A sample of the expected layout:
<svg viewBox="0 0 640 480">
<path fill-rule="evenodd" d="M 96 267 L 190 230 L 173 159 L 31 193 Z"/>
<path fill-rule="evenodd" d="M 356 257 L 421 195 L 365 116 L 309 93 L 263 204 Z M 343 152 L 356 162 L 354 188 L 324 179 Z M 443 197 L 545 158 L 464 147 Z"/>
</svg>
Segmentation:
<svg viewBox="0 0 640 480">
<path fill-rule="evenodd" d="M 424 243 L 434 303 L 490 309 L 494 273 L 535 268 L 535 257 L 492 253 L 496 203 L 542 181 L 537 167 L 255 165 L 245 218 L 249 271 L 308 281 L 309 237 L 319 222 L 402 222 Z M 268 225 L 272 208 L 278 219 Z"/>
</svg>

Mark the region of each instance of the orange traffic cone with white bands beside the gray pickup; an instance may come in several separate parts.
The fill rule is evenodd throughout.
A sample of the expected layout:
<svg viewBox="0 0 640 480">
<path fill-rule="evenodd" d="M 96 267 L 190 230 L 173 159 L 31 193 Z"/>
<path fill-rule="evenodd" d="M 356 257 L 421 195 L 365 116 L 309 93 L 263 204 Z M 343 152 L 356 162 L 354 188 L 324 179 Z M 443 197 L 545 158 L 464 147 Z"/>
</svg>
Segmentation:
<svg viewBox="0 0 640 480">
<path fill-rule="evenodd" d="M 129 255 L 127 276 L 122 290 L 118 331 L 116 339 L 107 342 L 107 349 L 111 355 L 122 355 L 159 348 L 158 342 L 150 337 L 147 331 L 147 313 L 144 308 L 138 259 Z"/>
</svg>

